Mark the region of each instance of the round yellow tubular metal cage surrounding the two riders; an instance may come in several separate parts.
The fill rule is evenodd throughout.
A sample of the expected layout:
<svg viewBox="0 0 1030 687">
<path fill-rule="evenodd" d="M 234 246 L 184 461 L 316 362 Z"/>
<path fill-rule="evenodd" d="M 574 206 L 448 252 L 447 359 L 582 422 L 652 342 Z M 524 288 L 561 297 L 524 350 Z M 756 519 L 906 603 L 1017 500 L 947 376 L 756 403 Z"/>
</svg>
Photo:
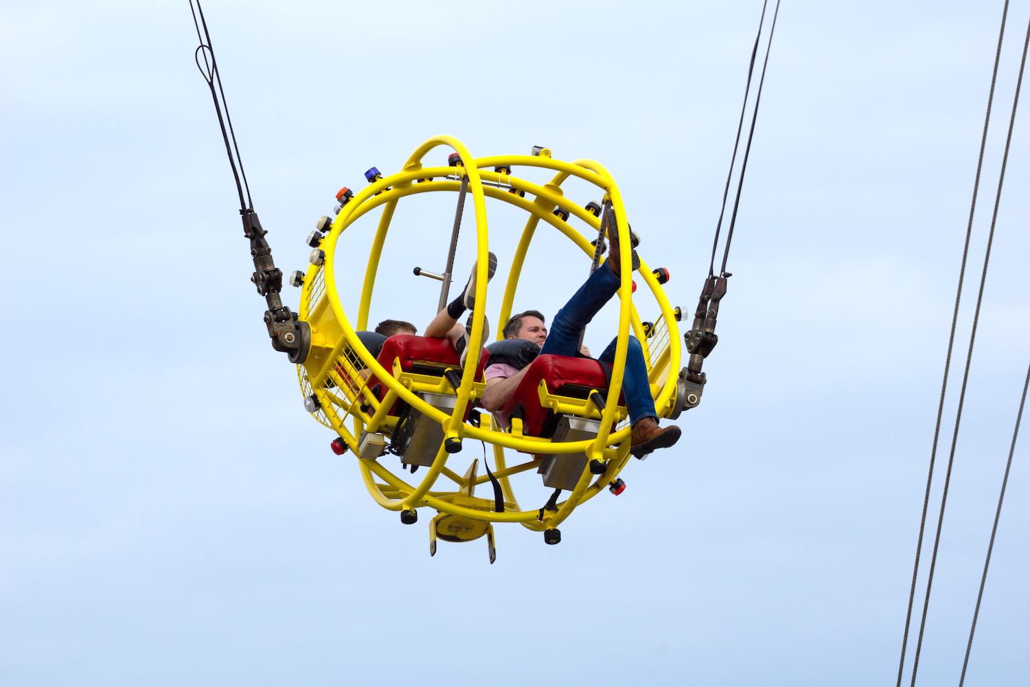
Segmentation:
<svg viewBox="0 0 1030 687">
<path fill-rule="evenodd" d="M 421 168 L 421 157 L 430 149 L 437 147 L 438 145 L 447 145 L 458 151 L 461 156 L 466 167 L 458 168 Z M 555 176 L 549 184 L 544 186 L 538 186 L 536 184 L 526 182 L 522 179 L 511 177 L 509 175 L 501 175 L 485 168 L 494 166 L 533 166 L 540 168 L 549 168 L 554 170 Z M 480 171 L 479 168 L 484 168 Z M 482 158 L 473 159 L 469 153 L 468 149 L 460 144 L 456 139 L 451 137 L 441 136 L 430 139 L 420 146 L 418 150 L 413 153 L 409 159 L 409 162 L 405 165 L 405 169 L 401 174 L 392 175 L 385 179 L 382 179 L 374 184 L 370 184 L 368 187 L 356 194 L 350 203 L 348 203 L 344 209 L 341 211 L 340 215 L 334 221 L 333 230 L 330 232 L 328 242 L 325 243 L 324 249 L 327 251 L 325 266 L 323 267 L 323 279 L 325 286 L 325 296 L 323 299 L 319 300 L 318 304 L 315 305 L 317 308 L 329 307 L 333 311 L 333 315 L 336 317 L 336 322 L 339 323 L 342 330 L 342 336 L 340 336 L 338 341 L 333 341 L 336 338 L 336 333 L 332 334 L 333 338 L 327 339 L 325 346 L 333 344 L 334 348 L 332 355 L 328 365 L 323 369 L 318 371 L 316 375 L 315 383 L 312 384 L 312 388 L 316 394 L 330 393 L 328 390 L 320 389 L 323 386 L 323 382 L 330 372 L 334 369 L 334 366 L 339 362 L 340 353 L 345 346 L 349 346 L 351 350 L 354 351 L 356 357 L 360 358 L 363 363 L 371 370 L 372 374 L 375 374 L 383 384 L 388 389 L 388 392 L 392 392 L 397 398 L 403 399 L 410 403 L 415 409 L 422 412 L 426 417 L 434 421 L 439 421 L 445 427 L 448 436 L 452 437 L 467 437 L 470 439 L 482 439 L 483 441 L 490 442 L 494 447 L 494 462 L 497 469 L 495 473 L 497 479 L 502 482 L 502 490 L 504 491 L 504 496 L 506 501 L 511 503 L 517 503 L 514 500 L 514 494 L 512 493 L 511 485 L 508 477 L 512 474 L 518 472 L 524 472 L 529 470 L 535 465 L 539 465 L 537 460 L 529 462 L 524 462 L 520 466 L 515 466 L 514 468 L 508 469 L 505 466 L 504 448 L 514 448 L 516 450 L 524 452 L 535 452 L 541 451 L 542 444 L 547 445 L 547 451 L 550 453 L 573 453 L 579 452 L 581 450 L 588 451 L 594 455 L 607 456 L 611 453 L 612 449 L 605 449 L 605 446 L 609 444 L 618 444 L 618 449 L 616 449 L 616 457 L 612 457 L 608 461 L 608 471 L 605 475 L 597 479 L 593 484 L 590 484 L 590 475 L 584 472 L 581 476 L 580 483 L 577 484 L 577 488 L 573 491 L 570 499 L 560 505 L 557 513 L 552 514 L 546 523 L 546 526 L 555 526 L 558 522 L 562 521 L 568 515 L 583 501 L 586 501 L 604 488 L 619 471 L 623 469 L 628 458 L 628 441 L 624 441 L 629 434 L 629 427 L 624 427 L 623 430 L 611 433 L 610 427 L 612 426 L 612 421 L 616 417 L 617 413 L 617 399 L 621 391 L 621 381 L 624 374 L 625 356 L 628 349 L 628 336 L 630 330 L 641 339 L 642 344 L 645 346 L 648 344 L 646 337 L 643 336 L 642 328 L 640 324 L 640 317 L 632 306 L 632 301 L 630 297 L 630 279 L 631 275 L 629 271 L 625 271 L 622 275 L 621 284 L 619 288 L 620 298 L 620 315 L 619 315 L 619 336 L 616 341 L 616 354 L 613 365 L 613 379 L 612 384 L 609 388 L 608 403 L 606 404 L 605 412 L 602 413 L 602 433 L 594 441 L 584 441 L 584 442 L 574 442 L 568 444 L 553 444 L 547 441 L 542 442 L 541 440 L 533 441 L 533 438 L 513 436 L 510 434 L 504 434 L 501 432 L 491 432 L 489 430 L 483 430 L 481 427 L 474 427 L 467 425 L 461 422 L 461 418 L 465 414 L 465 409 L 467 404 L 471 402 L 474 398 L 478 396 L 480 391 L 480 386 L 472 382 L 475 375 L 475 366 L 467 366 L 462 373 L 462 380 L 459 384 L 457 391 L 457 403 L 455 404 L 454 411 L 448 416 L 445 413 L 436 411 L 435 408 L 428 406 L 420 399 L 414 396 L 414 390 L 421 390 L 423 388 L 436 388 L 437 385 L 430 384 L 428 381 L 419 380 L 407 380 L 407 383 L 402 383 L 401 380 L 396 379 L 393 376 L 386 373 L 378 362 L 371 358 L 369 352 L 365 349 L 360 342 L 356 339 L 356 334 L 354 330 L 350 327 L 346 315 L 343 313 L 343 309 L 340 305 L 339 294 L 337 293 L 337 285 L 335 280 L 335 274 L 333 269 L 333 259 L 335 257 L 335 247 L 339 235 L 352 224 L 357 217 L 364 215 L 365 213 L 371 211 L 379 205 L 385 204 L 386 207 L 383 209 L 382 216 L 380 218 L 379 228 L 377 229 L 376 238 L 374 240 L 373 255 L 370 256 L 369 267 L 366 270 L 366 280 L 363 286 L 362 302 L 358 309 L 357 322 L 359 324 L 358 329 L 364 329 L 367 327 L 368 311 L 371 303 L 371 294 L 375 282 L 375 273 L 378 269 L 378 262 L 381 255 L 382 246 L 384 243 L 385 234 L 388 231 L 389 217 L 392 215 L 393 209 L 396 208 L 397 202 L 400 198 L 414 194 L 414 193 L 424 193 L 428 191 L 457 191 L 459 186 L 459 181 L 457 179 L 445 178 L 441 181 L 423 182 L 418 184 L 411 184 L 410 182 L 416 178 L 426 178 L 426 177 L 449 177 L 454 175 L 455 172 L 460 175 L 466 173 L 469 175 L 469 186 L 473 195 L 473 204 L 476 213 L 476 229 L 477 229 L 477 257 L 479 260 L 478 272 L 477 272 L 477 294 L 476 298 L 479 302 L 485 301 L 486 296 L 486 253 L 488 250 L 488 232 L 486 229 L 486 211 L 485 211 L 485 198 L 491 197 L 496 200 L 503 200 L 516 207 L 519 207 L 527 211 L 530 215 L 529 222 L 527 222 L 527 231 L 523 231 L 522 240 L 520 240 L 519 248 L 516 251 L 515 260 L 513 261 L 512 274 L 509 276 L 508 286 L 506 287 L 505 300 L 502 306 L 502 317 L 499 318 L 499 323 L 503 325 L 503 322 L 508 319 L 511 313 L 511 307 L 514 301 L 515 289 L 517 288 L 519 274 L 524 263 L 526 252 L 528 250 L 528 245 L 531 242 L 533 236 L 536 231 L 536 227 L 539 225 L 540 219 L 551 224 L 553 227 L 558 229 L 558 231 L 565 234 L 574 243 L 576 243 L 584 253 L 592 255 L 593 247 L 589 245 L 589 240 L 583 236 L 580 232 L 576 231 L 570 227 L 569 222 L 562 221 L 559 218 L 551 214 L 550 209 L 555 205 L 569 210 L 571 215 L 575 215 L 581 220 L 583 220 L 589 228 L 596 231 L 599 226 L 599 219 L 593 217 L 593 215 L 578 205 L 574 205 L 569 199 L 563 198 L 560 190 L 560 184 L 569 176 L 577 176 L 584 179 L 596 186 L 607 191 L 612 199 L 613 207 L 615 209 L 618 226 L 619 226 L 619 239 L 621 248 L 621 257 L 623 264 L 629 264 L 629 252 L 630 247 L 628 245 L 628 222 L 625 218 L 625 211 L 622 206 L 622 200 L 619 196 L 618 186 L 611 178 L 611 174 L 607 169 L 600 165 L 593 163 L 592 161 L 577 161 L 576 163 L 562 163 L 560 161 L 550 160 L 546 158 L 537 158 L 529 156 L 507 156 L 499 158 Z M 533 194 L 536 198 L 531 201 L 527 201 L 524 198 L 518 196 L 517 194 L 510 194 L 506 188 L 496 188 L 493 186 L 483 186 L 482 181 L 487 180 L 492 183 L 511 184 L 511 186 L 523 191 L 528 194 Z M 387 191 L 387 188 L 389 188 Z M 376 195 L 378 194 L 378 196 Z M 531 224 L 531 228 L 530 228 Z M 592 238 L 592 237 L 591 237 Z M 671 364 L 673 368 L 679 366 L 680 351 L 679 351 L 679 332 L 675 323 L 675 317 L 672 315 L 672 306 L 668 305 L 667 299 L 660 289 L 660 285 L 657 284 L 653 275 L 650 274 L 649 270 L 641 269 L 642 276 L 645 283 L 651 286 L 652 291 L 655 294 L 659 306 L 662 310 L 662 316 L 665 317 L 667 330 L 670 333 L 670 352 L 668 356 L 671 358 Z M 317 274 L 317 273 L 315 273 Z M 308 289 L 308 299 L 310 301 L 311 289 L 313 288 L 315 278 L 311 279 L 311 286 L 307 283 L 305 284 L 306 289 Z M 302 298 L 304 295 L 302 294 Z M 321 301 L 324 301 L 322 303 Z M 308 310 L 311 310 L 310 302 L 308 303 Z M 476 317 L 476 315 L 479 317 Z M 474 313 L 474 321 L 472 327 L 472 332 L 470 333 L 472 341 L 472 346 L 478 350 L 481 342 L 482 334 L 482 315 L 483 312 Z M 500 337 L 499 337 L 500 338 Z M 324 350 L 324 349 L 323 349 Z M 650 357 L 648 356 L 648 362 Z M 664 359 L 664 353 L 662 353 L 662 359 Z M 309 374 L 310 381 L 310 374 Z M 667 403 L 672 398 L 672 393 L 675 391 L 675 376 L 670 375 L 670 379 L 666 380 L 664 386 L 658 391 L 658 402 L 656 405 L 662 404 L 662 399 Z M 344 388 L 341 386 L 341 392 L 344 396 L 349 397 L 349 388 Z M 335 398 L 335 394 L 332 394 Z M 329 398 L 329 397 L 327 397 Z M 356 399 L 356 397 L 355 397 Z M 566 410 L 561 404 L 563 402 L 556 402 L 559 404 L 559 410 Z M 589 402 L 592 405 L 592 402 Z M 353 406 L 353 402 L 350 404 Z M 392 405 L 390 403 L 389 405 Z M 568 410 L 578 411 L 583 413 L 585 406 L 583 404 L 580 406 L 578 404 L 569 404 L 570 408 Z M 389 406 L 387 406 L 388 408 Z M 351 408 L 350 410 L 354 410 Z M 377 411 L 379 409 L 377 408 Z M 591 410 L 595 410 L 592 409 Z M 357 414 L 354 413 L 355 417 L 355 428 L 360 426 Z M 356 451 L 356 442 L 353 436 L 347 432 L 346 427 L 343 427 L 340 422 L 342 420 L 338 418 L 330 418 L 331 423 L 334 424 L 341 437 L 347 443 L 348 447 L 352 451 Z M 371 419 L 371 418 L 370 418 Z M 337 426 L 339 425 L 339 426 Z M 610 434 L 610 436 L 609 436 Z M 618 457 L 621 455 L 622 457 Z M 533 529 L 540 529 L 545 526 L 545 523 L 541 523 L 537 520 L 537 511 L 526 511 L 526 512 L 506 512 L 506 513 L 484 513 L 483 511 L 476 511 L 474 509 L 468 509 L 464 507 L 455 507 L 453 504 L 448 504 L 442 499 L 446 497 L 447 492 L 437 492 L 431 491 L 430 488 L 439 475 L 443 474 L 449 479 L 454 479 L 457 477 L 455 473 L 450 471 L 445 467 L 447 455 L 442 450 L 438 451 L 438 454 L 434 460 L 434 465 L 430 468 L 428 475 L 422 480 L 421 484 L 417 487 L 411 487 L 399 478 L 394 477 L 386 468 L 380 466 L 376 461 L 365 461 L 360 460 L 363 475 L 366 477 L 367 485 L 369 487 L 370 493 L 376 499 L 380 505 L 390 510 L 400 510 L 404 507 L 422 507 L 431 506 L 437 508 L 441 512 L 453 513 L 457 515 L 464 515 L 466 517 L 472 517 L 476 519 L 486 519 L 494 522 L 521 522 L 524 526 Z M 379 476 L 385 484 L 376 485 L 375 481 L 371 479 L 372 474 Z M 388 477 L 387 477 L 388 476 Z M 458 480 L 461 478 L 458 477 Z M 477 483 L 482 483 L 486 480 L 485 476 L 482 479 L 477 479 Z M 455 481 L 455 483 L 460 483 Z M 385 489 L 385 491 L 384 491 Z M 389 496 L 404 496 L 403 499 L 390 499 Z"/>
</svg>

